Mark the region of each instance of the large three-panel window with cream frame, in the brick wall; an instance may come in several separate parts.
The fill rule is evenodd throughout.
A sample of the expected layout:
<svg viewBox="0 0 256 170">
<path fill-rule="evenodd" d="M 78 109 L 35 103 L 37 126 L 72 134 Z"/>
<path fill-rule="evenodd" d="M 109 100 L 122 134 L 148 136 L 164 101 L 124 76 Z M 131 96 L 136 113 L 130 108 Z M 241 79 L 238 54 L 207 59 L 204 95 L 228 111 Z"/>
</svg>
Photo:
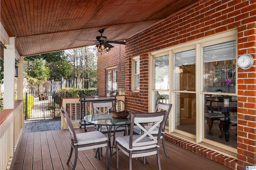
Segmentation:
<svg viewBox="0 0 256 170">
<path fill-rule="evenodd" d="M 169 55 L 162 55 L 164 53 Z M 169 133 L 237 152 L 237 31 L 183 43 L 150 55 L 149 108 L 154 111 L 157 100 L 162 100 L 158 98 L 163 96 L 165 102 L 174 104 L 169 115 L 173 119 L 167 122 Z M 228 106 L 224 98 L 228 98 Z M 207 116 L 211 113 L 220 117 L 209 121 Z M 223 115 L 230 117 L 228 142 L 222 128 Z"/>
</svg>

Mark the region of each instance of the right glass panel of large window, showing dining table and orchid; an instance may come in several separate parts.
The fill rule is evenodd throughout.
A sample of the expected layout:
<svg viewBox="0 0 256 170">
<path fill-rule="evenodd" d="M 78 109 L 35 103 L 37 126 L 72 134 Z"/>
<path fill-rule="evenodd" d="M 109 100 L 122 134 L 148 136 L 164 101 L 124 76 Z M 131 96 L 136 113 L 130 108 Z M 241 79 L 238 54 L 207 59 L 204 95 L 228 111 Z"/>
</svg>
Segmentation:
<svg viewBox="0 0 256 170">
<path fill-rule="evenodd" d="M 229 143 L 236 147 L 237 97 L 236 92 L 236 41 L 228 41 L 202 47 L 204 102 L 204 138 L 225 141 L 224 117 L 230 118 Z M 230 81 L 230 82 L 228 82 Z M 220 93 L 226 93 L 220 95 Z M 218 94 L 217 94 L 218 93 Z M 225 105 L 224 100 L 228 100 Z M 227 112 L 226 112 L 227 111 Z M 217 130 L 214 128 L 217 127 Z M 217 133 L 219 136 L 214 138 Z M 235 141 L 235 142 L 234 142 Z"/>
</svg>

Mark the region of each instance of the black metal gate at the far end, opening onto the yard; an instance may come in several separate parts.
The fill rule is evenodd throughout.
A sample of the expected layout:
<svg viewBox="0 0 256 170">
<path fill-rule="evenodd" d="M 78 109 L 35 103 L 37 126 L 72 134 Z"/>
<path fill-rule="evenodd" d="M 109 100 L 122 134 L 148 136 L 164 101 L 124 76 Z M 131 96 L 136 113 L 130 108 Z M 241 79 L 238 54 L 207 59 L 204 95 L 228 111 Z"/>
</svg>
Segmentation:
<svg viewBox="0 0 256 170">
<path fill-rule="evenodd" d="M 26 92 L 25 97 L 25 119 L 38 119 L 55 117 L 55 93 L 51 92 Z"/>
</svg>

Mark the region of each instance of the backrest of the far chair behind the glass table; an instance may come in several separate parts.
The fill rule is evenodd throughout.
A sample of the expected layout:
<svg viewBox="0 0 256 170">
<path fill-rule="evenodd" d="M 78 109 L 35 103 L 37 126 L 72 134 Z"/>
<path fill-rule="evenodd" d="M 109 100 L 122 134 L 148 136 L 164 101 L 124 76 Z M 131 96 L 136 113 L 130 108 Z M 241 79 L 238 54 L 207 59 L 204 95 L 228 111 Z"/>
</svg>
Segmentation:
<svg viewBox="0 0 256 170">
<path fill-rule="evenodd" d="M 97 101 L 92 102 L 92 113 L 96 114 L 96 112 L 100 114 L 110 113 L 110 109 L 113 106 L 112 101 Z"/>
</svg>

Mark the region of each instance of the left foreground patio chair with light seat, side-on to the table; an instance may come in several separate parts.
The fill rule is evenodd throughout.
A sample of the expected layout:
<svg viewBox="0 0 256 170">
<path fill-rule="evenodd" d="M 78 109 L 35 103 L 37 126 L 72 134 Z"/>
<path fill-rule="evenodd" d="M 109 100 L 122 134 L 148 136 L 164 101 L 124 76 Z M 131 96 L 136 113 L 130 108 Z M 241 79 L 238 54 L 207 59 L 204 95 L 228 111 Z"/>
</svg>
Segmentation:
<svg viewBox="0 0 256 170">
<path fill-rule="evenodd" d="M 64 109 L 61 109 L 64 119 L 67 123 L 68 130 L 70 131 L 71 135 L 71 150 L 68 157 L 67 164 L 70 162 L 70 158 L 72 156 L 73 150 L 75 152 L 75 160 L 73 165 L 73 170 L 76 168 L 76 162 L 78 157 L 78 151 L 80 150 L 89 150 L 89 149 L 96 149 L 98 152 L 98 159 L 100 159 L 100 155 L 102 156 L 102 152 L 100 154 L 100 148 L 106 147 L 106 168 L 108 169 L 108 149 L 109 149 L 109 142 L 108 137 L 104 135 L 100 131 L 92 131 L 86 133 L 78 133 L 76 134 L 74 131 L 74 127 L 68 116 L 68 112 Z M 95 157 L 97 157 L 95 155 Z"/>
</svg>

